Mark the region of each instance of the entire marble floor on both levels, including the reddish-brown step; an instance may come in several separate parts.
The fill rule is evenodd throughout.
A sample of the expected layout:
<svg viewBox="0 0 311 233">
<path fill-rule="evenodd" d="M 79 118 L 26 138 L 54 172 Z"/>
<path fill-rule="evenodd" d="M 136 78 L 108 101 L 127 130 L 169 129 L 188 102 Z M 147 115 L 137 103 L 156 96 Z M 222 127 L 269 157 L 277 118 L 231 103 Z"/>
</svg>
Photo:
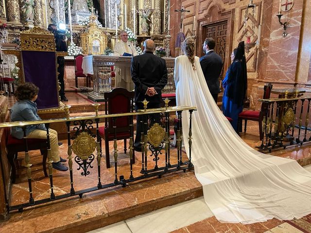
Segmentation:
<svg viewBox="0 0 311 233">
<path fill-rule="evenodd" d="M 67 93 L 67 104 L 84 106 L 83 114 L 90 114 L 89 100 L 74 92 Z M 14 101 L 11 101 L 11 104 Z M 77 108 L 78 109 L 78 108 Z M 76 113 L 78 114 L 78 113 Z M 258 122 L 248 122 L 247 132 L 241 133 L 242 139 L 251 147 L 259 146 Z M 60 154 L 67 158 L 67 142 L 63 141 Z M 119 152 L 122 151 L 122 142 L 118 143 Z M 113 161 L 113 142 L 109 144 L 110 161 Z M 301 166 L 311 170 L 311 144 L 293 146 L 286 150 L 276 150 L 271 155 L 295 159 Z M 172 148 L 172 159 L 176 160 L 176 150 Z M 25 179 L 26 169 L 23 167 L 23 154 L 18 155 L 19 168 L 17 182 L 12 187 L 11 205 L 28 201 L 28 184 Z M 186 156 L 186 155 L 185 155 Z M 49 197 L 49 178 L 42 172 L 42 156 L 38 151 L 31 154 L 33 192 L 35 200 Z M 139 174 L 141 156 L 136 154 L 137 163 L 133 167 L 134 176 Z M 151 160 L 151 159 L 150 159 Z M 68 163 L 68 162 L 67 162 Z M 120 153 L 118 157 L 118 174 L 129 174 L 128 155 Z M 159 164 L 163 166 L 163 157 Z M 154 164 L 149 161 L 148 167 Z M 84 189 L 96 186 L 97 173 L 90 176 L 81 176 L 78 166 L 74 163 L 75 189 Z M 114 180 L 114 168 L 105 169 L 104 156 L 101 160 L 102 182 Z M 113 163 L 111 163 L 113 166 Z M 97 169 L 94 166 L 93 170 Z M 69 173 L 53 170 L 54 191 L 56 195 L 69 192 Z M 266 223 L 251 224 L 245 227 L 239 224 L 219 223 L 211 214 L 202 198 L 202 186 L 196 180 L 193 171 L 176 172 L 163 176 L 161 179 L 152 178 L 130 183 L 125 188 L 120 186 L 87 193 L 79 199 L 77 196 L 65 200 L 57 200 L 24 209 L 22 213 L 12 212 L 10 219 L 0 223 L 0 233 L 19 233 L 20 229 L 26 232 L 92 232 L 104 233 L 197 233 L 197 232 L 227 232 L 227 233 L 264 233 L 267 231 L 281 233 L 298 233 L 302 229 L 293 229 L 292 222 L 272 219 Z M 187 210 L 187 211 L 185 211 Z M 307 219 L 309 219 L 307 217 Z M 308 220 L 309 221 L 309 220 Z M 309 221 L 311 222 L 311 221 Z M 146 224 L 148 223 L 148 224 Z M 112 225 L 111 225 L 112 224 Z M 308 224 L 307 225 L 308 228 Z M 148 228 L 145 228 L 148 226 Z M 101 228 L 104 227 L 104 228 Z M 309 225 L 310 227 L 310 225 Z M 307 230 L 302 232 L 308 232 Z M 311 229 L 309 231 L 311 233 Z"/>
</svg>

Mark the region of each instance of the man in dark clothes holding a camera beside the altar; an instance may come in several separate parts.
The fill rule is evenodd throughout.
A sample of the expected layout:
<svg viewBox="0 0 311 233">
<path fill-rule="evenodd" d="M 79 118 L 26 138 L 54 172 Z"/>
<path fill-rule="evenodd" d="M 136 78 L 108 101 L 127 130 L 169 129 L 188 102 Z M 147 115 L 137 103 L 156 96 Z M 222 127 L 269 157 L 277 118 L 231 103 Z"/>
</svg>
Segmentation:
<svg viewBox="0 0 311 233">
<path fill-rule="evenodd" d="M 67 52 L 67 44 L 65 41 L 65 34 L 57 31 L 57 26 L 53 23 L 49 24 L 48 30 L 54 34 L 56 51 Z M 68 101 L 65 96 L 65 82 L 64 82 L 64 71 L 65 71 L 65 59 L 64 57 L 57 57 L 58 68 L 58 82 L 60 83 L 60 100 Z"/>
</svg>

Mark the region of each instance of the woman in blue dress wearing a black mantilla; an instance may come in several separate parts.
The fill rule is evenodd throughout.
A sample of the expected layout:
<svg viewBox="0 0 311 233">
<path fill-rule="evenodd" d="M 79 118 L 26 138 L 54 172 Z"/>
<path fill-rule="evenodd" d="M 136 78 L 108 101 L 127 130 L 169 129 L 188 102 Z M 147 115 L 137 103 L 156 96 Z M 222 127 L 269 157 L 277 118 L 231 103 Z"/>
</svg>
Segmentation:
<svg viewBox="0 0 311 233">
<path fill-rule="evenodd" d="M 238 116 L 243 111 L 247 92 L 247 70 L 244 54 L 244 41 L 231 54 L 231 65 L 223 80 L 223 113 L 233 119 L 232 127 L 238 132 Z"/>
</svg>

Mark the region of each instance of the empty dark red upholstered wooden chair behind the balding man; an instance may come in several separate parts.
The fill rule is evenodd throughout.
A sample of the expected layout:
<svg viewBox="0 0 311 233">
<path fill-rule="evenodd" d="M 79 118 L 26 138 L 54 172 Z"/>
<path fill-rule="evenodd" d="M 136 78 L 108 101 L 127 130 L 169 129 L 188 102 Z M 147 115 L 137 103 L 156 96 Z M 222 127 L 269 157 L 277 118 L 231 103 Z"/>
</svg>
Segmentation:
<svg viewBox="0 0 311 233">
<path fill-rule="evenodd" d="M 134 92 L 125 88 L 114 88 L 110 92 L 104 93 L 105 114 L 118 114 L 133 112 Z M 130 117 L 122 116 L 116 120 L 117 140 L 124 140 L 124 153 L 126 153 L 126 139 L 131 136 Z M 115 137 L 115 129 L 112 118 L 105 118 L 105 126 L 99 127 L 99 134 L 105 141 L 106 167 L 110 167 L 109 141 Z M 133 138 L 134 140 L 134 138 Z M 134 141 L 133 141 L 134 143 Z M 134 151 L 133 151 L 134 152 Z M 133 154 L 133 163 L 135 155 Z"/>
</svg>

